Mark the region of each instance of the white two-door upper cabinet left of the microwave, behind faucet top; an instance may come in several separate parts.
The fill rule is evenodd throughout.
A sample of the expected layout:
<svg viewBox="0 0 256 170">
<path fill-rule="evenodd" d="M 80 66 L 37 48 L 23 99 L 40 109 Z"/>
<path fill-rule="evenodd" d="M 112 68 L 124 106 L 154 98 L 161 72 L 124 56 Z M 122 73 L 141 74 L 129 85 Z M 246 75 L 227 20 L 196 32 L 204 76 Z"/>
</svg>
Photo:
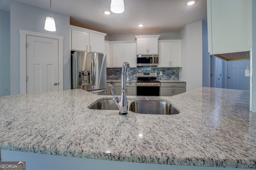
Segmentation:
<svg viewBox="0 0 256 170">
<path fill-rule="evenodd" d="M 130 67 L 136 67 L 136 42 L 112 41 L 112 66 L 122 67 L 128 62 Z"/>
</svg>

